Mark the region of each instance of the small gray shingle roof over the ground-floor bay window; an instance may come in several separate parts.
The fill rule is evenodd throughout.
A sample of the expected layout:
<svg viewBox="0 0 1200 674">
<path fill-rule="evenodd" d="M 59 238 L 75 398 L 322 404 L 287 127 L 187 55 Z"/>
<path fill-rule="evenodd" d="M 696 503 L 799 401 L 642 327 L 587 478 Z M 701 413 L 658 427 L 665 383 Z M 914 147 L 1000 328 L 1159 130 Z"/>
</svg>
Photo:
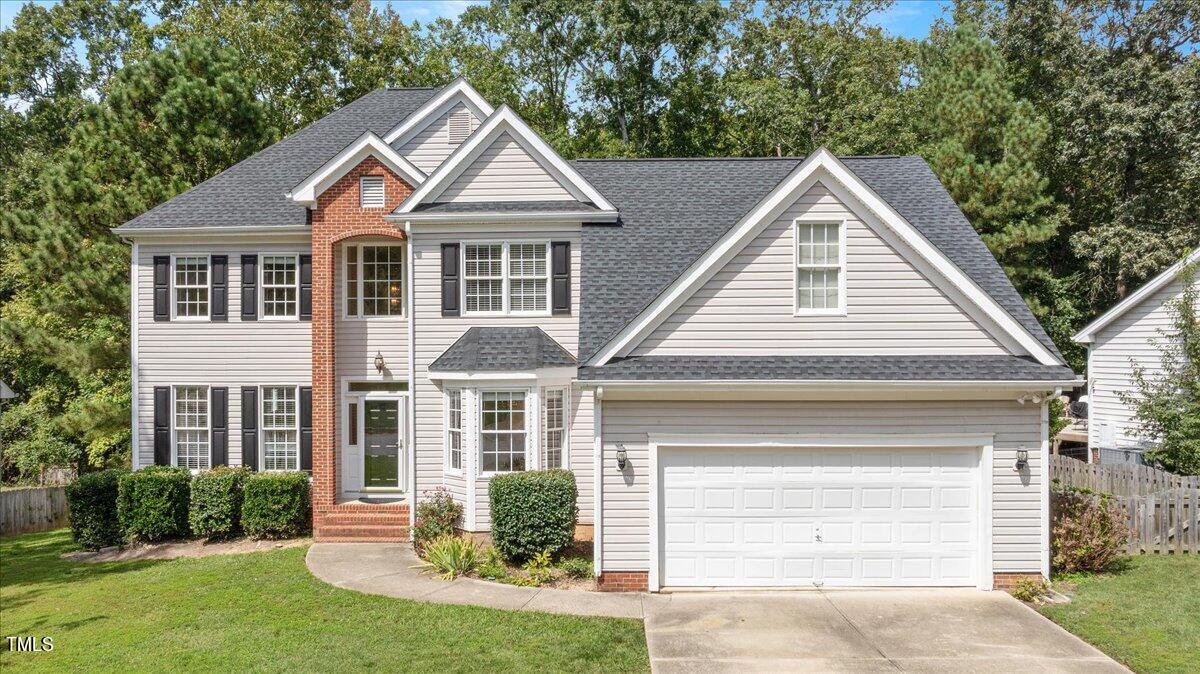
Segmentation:
<svg viewBox="0 0 1200 674">
<path fill-rule="evenodd" d="M 540 327 L 472 327 L 430 365 L 430 372 L 528 372 L 577 361 Z"/>
</svg>

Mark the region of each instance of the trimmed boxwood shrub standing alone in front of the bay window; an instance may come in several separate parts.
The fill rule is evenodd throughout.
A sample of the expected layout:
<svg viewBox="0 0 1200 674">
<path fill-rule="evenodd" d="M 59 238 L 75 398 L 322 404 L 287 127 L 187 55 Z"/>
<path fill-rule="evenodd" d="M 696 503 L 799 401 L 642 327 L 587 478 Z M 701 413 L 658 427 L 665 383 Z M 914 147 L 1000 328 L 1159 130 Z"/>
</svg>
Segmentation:
<svg viewBox="0 0 1200 674">
<path fill-rule="evenodd" d="M 550 552 L 575 538 L 575 475 L 570 470 L 532 470 L 492 477 L 487 500 L 492 543 L 512 561 Z"/>
</svg>

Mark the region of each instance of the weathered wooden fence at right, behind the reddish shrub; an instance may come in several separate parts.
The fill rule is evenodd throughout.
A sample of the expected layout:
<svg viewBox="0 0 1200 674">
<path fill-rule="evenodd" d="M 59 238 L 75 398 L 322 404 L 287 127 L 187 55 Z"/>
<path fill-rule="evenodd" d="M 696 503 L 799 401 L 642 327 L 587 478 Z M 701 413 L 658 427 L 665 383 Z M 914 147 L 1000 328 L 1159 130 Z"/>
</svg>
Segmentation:
<svg viewBox="0 0 1200 674">
<path fill-rule="evenodd" d="M 1127 553 L 1200 554 L 1200 476 L 1051 456 L 1050 477 L 1064 487 L 1110 494 L 1110 503 L 1126 513 Z"/>
</svg>

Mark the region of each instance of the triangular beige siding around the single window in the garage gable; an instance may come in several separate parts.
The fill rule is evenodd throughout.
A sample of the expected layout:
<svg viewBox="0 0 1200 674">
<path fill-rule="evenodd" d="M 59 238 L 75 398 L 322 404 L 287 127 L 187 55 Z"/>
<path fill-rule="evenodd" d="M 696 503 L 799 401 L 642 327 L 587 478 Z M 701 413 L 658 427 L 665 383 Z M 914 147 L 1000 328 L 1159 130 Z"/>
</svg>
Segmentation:
<svg viewBox="0 0 1200 674">
<path fill-rule="evenodd" d="M 811 215 L 846 219 L 846 315 L 794 315 L 793 221 Z M 1006 353 L 822 185 L 799 197 L 634 350 L 635 355 Z"/>
</svg>

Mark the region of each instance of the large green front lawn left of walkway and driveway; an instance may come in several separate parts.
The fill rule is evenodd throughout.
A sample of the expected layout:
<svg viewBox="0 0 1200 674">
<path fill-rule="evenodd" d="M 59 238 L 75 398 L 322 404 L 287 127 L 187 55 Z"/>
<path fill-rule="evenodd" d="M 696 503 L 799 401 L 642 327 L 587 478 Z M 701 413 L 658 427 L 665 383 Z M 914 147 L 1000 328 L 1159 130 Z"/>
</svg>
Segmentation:
<svg viewBox="0 0 1200 674">
<path fill-rule="evenodd" d="M 66 531 L 0 538 L 0 637 L 49 636 L 49 654 L 0 669 L 404 672 L 649 669 L 638 620 L 425 604 L 340 590 L 306 548 L 204 559 L 77 564 Z"/>
</svg>

